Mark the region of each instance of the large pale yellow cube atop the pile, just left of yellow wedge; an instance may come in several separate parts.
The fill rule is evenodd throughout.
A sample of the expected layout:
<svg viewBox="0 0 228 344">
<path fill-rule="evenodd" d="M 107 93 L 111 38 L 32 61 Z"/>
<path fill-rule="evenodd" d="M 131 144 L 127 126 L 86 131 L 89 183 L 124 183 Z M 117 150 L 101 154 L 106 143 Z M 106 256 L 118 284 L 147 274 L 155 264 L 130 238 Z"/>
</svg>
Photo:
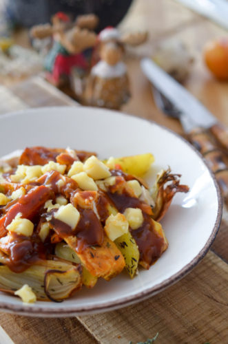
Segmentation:
<svg viewBox="0 0 228 344">
<path fill-rule="evenodd" d="M 107 166 L 94 155 L 85 161 L 83 169 L 94 180 L 108 178 L 111 175 Z"/>
</svg>

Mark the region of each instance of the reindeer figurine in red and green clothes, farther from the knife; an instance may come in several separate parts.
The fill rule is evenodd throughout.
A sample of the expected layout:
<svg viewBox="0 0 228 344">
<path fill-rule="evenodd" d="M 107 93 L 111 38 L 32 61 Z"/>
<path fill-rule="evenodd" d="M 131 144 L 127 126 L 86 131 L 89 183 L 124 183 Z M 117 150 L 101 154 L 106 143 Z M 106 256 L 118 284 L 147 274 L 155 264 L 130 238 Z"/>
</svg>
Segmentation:
<svg viewBox="0 0 228 344">
<path fill-rule="evenodd" d="M 35 38 L 53 36 L 54 44 L 45 59 L 46 78 L 50 83 L 59 87 L 66 80 L 69 81 L 74 67 L 87 71 L 89 65 L 82 52 L 95 45 L 96 34 L 89 30 L 94 29 L 98 21 L 96 15 L 85 14 L 70 23 L 66 14 L 58 12 L 52 17 L 52 25 L 37 25 L 32 28 L 31 36 Z"/>
</svg>

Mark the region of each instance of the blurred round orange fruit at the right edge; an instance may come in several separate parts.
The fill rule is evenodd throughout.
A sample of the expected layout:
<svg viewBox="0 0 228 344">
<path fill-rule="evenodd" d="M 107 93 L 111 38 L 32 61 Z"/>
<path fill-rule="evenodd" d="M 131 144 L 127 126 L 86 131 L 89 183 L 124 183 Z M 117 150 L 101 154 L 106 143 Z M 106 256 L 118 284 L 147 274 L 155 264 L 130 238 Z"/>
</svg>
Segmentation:
<svg viewBox="0 0 228 344">
<path fill-rule="evenodd" d="M 228 80 L 228 37 L 207 43 L 204 58 L 214 76 L 221 80 Z"/>
</svg>

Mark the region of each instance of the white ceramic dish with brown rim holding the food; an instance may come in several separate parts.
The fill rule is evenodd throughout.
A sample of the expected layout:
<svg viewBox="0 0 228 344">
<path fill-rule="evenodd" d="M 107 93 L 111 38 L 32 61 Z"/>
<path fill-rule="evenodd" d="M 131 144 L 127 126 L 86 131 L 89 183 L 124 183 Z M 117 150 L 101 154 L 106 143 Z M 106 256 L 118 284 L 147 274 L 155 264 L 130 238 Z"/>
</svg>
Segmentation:
<svg viewBox="0 0 228 344">
<path fill-rule="evenodd" d="M 196 266 L 211 245 L 222 213 L 218 186 L 200 155 L 172 131 L 141 118 L 87 107 L 28 109 L 0 116 L 0 156 L 26 146 L 72 147 L 101 158 L 152 152 L 153 171 L 171 166 L 190 191 L 174 197 L 162 220 L 169 248 L 149 270 L 133 280 L 124 273 L 99 281 L 63 303 L 21 300 L 0 293 L 0 309 L 33 316 L 72 316 L 105 312 L 150 297 Z M 149 176 L 148 176 L 149 178 Z"/>
</svg>

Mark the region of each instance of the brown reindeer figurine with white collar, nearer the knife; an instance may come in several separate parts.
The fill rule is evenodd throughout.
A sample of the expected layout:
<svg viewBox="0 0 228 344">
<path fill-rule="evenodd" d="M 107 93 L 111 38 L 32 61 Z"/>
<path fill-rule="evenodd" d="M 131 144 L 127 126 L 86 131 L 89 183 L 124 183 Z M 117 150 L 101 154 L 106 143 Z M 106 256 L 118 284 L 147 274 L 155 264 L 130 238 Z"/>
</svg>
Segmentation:
<svg viewBox="0 0 228 344">
<path fill-rule="evenodd" d="M 123 55 L 125 45 L 139 45 L 146 32 L 121 35 L 116 28 L 105 28 L 98 36 L 101 61 L 92 67 L 84 92 L 86 105 L 120 109 L 130 97 L 129 80 Z"/>
</svg>

